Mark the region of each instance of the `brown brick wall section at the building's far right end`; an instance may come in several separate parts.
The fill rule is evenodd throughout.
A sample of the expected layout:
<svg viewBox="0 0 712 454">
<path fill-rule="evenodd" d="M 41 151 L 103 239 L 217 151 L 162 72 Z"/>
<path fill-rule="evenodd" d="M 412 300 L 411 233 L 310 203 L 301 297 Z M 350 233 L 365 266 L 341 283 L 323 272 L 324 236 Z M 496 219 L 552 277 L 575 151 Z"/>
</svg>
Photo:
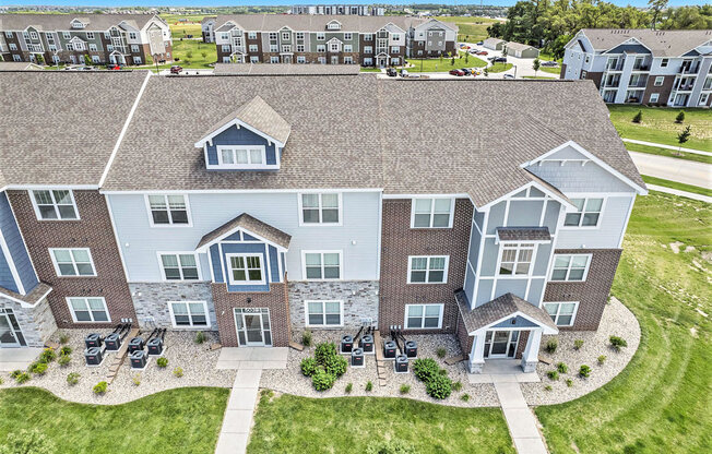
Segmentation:
<svg viewBox="0 0 712 454">
<path fill-rule="evenodd" d="M 546 285 L 544 302 L 579 301 L 573 326 L 561 326 L 559 330 L 595 331 L 598 328 L 621 252 L 621 249 L 557 249 L 555 251 L 557 254 L 593 254 L 585 282 L 549 282 Z"/>
</svg>

